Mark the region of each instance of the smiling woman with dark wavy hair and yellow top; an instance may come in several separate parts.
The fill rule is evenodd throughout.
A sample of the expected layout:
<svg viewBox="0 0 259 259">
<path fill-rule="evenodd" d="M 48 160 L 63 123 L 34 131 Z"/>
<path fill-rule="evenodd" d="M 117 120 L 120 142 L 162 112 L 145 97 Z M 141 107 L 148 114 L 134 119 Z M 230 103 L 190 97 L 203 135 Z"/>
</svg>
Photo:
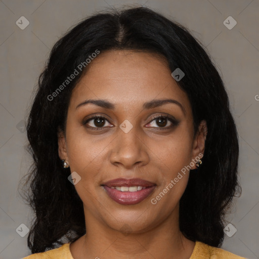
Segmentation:
<svg viewBox="0 0 259 259">
<path fill-rule="evenodd" d="M 82 21 L 51 52 L 27 133 L 26 258 L 241 258 L 219 248 L 239 187 L 235 122 L 180 24 L 148 8 Z"/>
</svg>

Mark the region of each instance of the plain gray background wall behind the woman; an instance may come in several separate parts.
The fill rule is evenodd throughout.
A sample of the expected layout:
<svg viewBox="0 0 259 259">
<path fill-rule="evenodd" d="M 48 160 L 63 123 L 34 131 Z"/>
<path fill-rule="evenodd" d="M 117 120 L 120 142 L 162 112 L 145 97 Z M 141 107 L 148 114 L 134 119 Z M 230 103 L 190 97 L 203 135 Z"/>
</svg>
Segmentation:
<svg viewBox="0 0 259 259">
<path fill-rule="evenodd" d="M 93 12 L 123 4 L 137 6 L 135 3 L 187 26 L 207 47 L 223 77 L 238 127 L 243 192 L 235 198 L 232 214 L 227 218 L 237 232 L 232 237 L 226 235 L 222 248 L 247 258 L 259 258 L 258 0 L 0 1 L 0 258 L 30 254 L 28 234 L 21 237 L 16 232 L 20 224 L 29 228 L 32 218 L 17 191 L 31 161 L 24 150 L 23 120 L 51 48 L 63 33 Z M 16 25 L 21 16 L 29 21 L 24 30 Z M 223 23 L 229 16 L 237 21 L 232 29 Z"/>
</svg>

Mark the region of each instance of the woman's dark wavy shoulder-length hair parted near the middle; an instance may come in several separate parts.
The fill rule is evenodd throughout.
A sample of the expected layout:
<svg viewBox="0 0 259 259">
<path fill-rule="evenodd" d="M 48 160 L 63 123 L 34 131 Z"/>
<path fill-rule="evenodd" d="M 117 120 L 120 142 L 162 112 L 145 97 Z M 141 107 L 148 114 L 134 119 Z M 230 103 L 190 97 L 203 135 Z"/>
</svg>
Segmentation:
<svg viewBox="0 0 259 259">
<path fill-rule="evenodd" d="M 130 7 L 98 12 L 77 24 L 56 42 L 39 76 L 27 119 L 28 150 L 34 161 L 24 185 L 26 201 L 35 212 L 27 238 L 32 253 L 86 233 L 82 201 L 67 179 L 70 169 L 62 167 L 58 155 L 58 130 L 65 132 L 71 92 L 87 66 L 53 100 L 48 96 L 96 50 L 102 54 L 121 49 L 160 54 L 171 71 L 184 71 L 178 85 L 191 103 L 195 133 L 204 119 L 207 137 L 202 166 L 190 171 L 180 200 L 180 230 L 192 241 L 222 245 L 224 216 L 241 190 L 237 130 L 224 83 L 187 28 L 149 8 Z"/>
</svg>

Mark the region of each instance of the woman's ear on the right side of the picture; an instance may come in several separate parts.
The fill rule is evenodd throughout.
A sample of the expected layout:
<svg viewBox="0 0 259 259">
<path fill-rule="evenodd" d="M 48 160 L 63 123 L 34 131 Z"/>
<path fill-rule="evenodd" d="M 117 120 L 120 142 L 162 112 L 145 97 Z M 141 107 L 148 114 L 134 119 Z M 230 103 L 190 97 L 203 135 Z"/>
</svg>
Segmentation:
<svg viewBox="0 0 259 259">
<path fill-rule="evenodd" d="M 195 162 L 194 162 L 194 166 L 192 166 L 192 169 L 197 168 L 196 167 L 196 162 L 198 162 L 197 158 L 199 157 L 199 159 L 201 159 L 201 157 L 204 154 L 206 136 L 207 136 L 207 123 L 205 120 L 202 120 L 200 122 L 196 136 L 193 140 L 192 161 L 195 161 Z"/>
</svg>

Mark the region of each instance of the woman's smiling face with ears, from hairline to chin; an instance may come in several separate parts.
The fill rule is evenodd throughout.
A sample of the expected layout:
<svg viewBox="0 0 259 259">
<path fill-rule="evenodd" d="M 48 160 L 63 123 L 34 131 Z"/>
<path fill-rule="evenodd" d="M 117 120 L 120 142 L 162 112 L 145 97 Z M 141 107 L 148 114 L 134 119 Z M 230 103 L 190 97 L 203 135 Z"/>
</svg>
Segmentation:
<svg viewBox="0 0 259 259">
<path fill-rule="evenodd" d="M 101 53 L 74 88 L 59 135 L 60 158 L 81 178 L 75 189 L 85 218 L 141 232 L 177 217 L 189 169 L 204 151 L 205 126 L 194 135 L 190 102 L 163 57 Z M 147 182 L 107 184 L 121 178 Z"/>
</svg>

